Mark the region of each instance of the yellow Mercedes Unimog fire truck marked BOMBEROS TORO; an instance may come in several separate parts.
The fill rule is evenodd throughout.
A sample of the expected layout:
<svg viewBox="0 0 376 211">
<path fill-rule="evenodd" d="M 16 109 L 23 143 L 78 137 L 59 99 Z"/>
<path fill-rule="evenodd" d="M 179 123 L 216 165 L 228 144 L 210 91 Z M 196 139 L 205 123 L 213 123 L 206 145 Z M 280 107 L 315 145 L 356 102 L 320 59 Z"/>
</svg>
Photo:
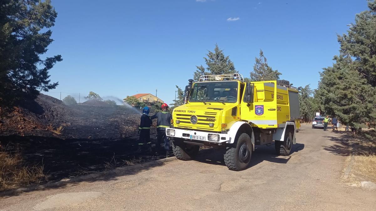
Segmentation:
<svg viewBox="0 0 376 211">
<path fill-rule="evenodd" d="M 173 110 L 174 155 L 191 160 L 200 145 L 224 149 L 224 163 L 244 170 L 255 145 L 275 142 L 289 155 L 300 127 L 298 91 L 288 81 L 244 82 L 240 74 L 202 75 L 185 89 L 186 103 Z"/>
</svg>

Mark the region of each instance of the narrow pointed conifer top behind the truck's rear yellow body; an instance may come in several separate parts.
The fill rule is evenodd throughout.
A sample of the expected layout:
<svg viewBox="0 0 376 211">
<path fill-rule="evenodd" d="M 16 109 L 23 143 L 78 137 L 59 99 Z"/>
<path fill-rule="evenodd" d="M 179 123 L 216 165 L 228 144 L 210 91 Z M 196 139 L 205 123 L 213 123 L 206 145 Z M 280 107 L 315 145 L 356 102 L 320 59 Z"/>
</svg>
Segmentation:
<svg viewBox="0 0 376 211">
<path fill-rule="evenodd" d="M 278 80 L 279 75 L 282 73 L 278 70 L 273 70 L 269 65 L 264 52 L 260 49 L 259 58 L 255 57 L 255 65 L 253 65 L 253 71 L 250 72 L 250 81 L 270 81 Z"/>
</svg>

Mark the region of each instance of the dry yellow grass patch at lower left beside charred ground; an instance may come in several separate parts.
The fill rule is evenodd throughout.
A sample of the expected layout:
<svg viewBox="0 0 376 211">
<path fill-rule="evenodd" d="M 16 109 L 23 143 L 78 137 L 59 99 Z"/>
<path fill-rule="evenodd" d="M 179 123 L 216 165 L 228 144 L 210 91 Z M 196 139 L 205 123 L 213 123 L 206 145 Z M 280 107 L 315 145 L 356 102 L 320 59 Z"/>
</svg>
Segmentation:
<svg viewBox="0 0 376 211">
<path fill-rule="evenodd" d="M 1 147 L 1 146 L 0 146 Z M 0 191 L 38 184 L 47 179 L 43 165 L 25 166 L 21 155 L 0 151 Z"/>
</svg>

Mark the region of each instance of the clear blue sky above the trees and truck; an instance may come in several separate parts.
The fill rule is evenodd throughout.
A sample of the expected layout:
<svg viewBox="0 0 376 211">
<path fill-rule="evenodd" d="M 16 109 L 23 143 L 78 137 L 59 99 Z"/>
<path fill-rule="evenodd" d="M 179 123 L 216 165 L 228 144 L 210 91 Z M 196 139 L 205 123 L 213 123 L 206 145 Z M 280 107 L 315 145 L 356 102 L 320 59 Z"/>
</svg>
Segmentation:
<svg viewBox="0 0 376 211">
<path fill-rule="evenodd" d="M 58 12 L 46 56 L 48 94 L 89 91 L 123 99 L 153 93 L 171 103 L 215 44 L 249 77 L 259 49 L 281 79 L 317 86 L 338 54 L 337 34 L 367 9 L 366 0 L 52 0 Z M 78 99 L 77 99 L 78 101 Z"/>
</svg>

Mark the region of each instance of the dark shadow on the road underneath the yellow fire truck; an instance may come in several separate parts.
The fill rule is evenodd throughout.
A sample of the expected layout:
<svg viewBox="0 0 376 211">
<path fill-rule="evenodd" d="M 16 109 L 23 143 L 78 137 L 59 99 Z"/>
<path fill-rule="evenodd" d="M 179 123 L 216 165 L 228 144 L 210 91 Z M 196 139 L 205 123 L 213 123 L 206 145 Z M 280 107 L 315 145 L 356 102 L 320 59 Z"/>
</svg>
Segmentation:
<svg viewBox="0 0 376 211">
<path fill-rule="evenodd" d="M 289 156 L 277 155 L 274 149 L 274 144 L 270 146 L 262 145 L 262 146 L 255 146 L 255 147 L 256 149 L 255 151 L 252 152 L 252 158 L 251 158 L 251 162 L 248 168 L 256 166 L 257 164 L 263 161 L 285 164 L 290 160 L 291 156 L 293 156 L 294 153 L 304 149 L 304 144 L 297 143 L 296 145 L 293 145 L 293 149 Z M 223 149 L 222 150 L 218 150 L 214 148 L 205 149 L 205 150 L 200 151 L 199 155 L 194 160 L 202 162 L 202 163 L 226 166 L 226 164 L 224 164 L 224 161 L 223 161 L 224 152 L 225 151 Z"/>
</svg>

